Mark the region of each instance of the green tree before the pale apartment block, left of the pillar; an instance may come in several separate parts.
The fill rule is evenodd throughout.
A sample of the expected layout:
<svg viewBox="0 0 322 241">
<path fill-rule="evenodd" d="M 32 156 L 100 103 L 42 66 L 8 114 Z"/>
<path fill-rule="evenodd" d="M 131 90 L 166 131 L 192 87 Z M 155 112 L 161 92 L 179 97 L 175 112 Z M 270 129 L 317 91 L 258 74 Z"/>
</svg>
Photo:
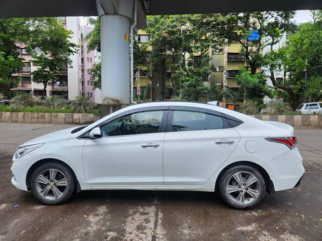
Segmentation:
<svg viewBox="0 0 322 241">
<path fill-rule="evenodd" d="M 64 29 L 56 18 L 33 19 L 30 28 L 28 49 L 33 64 L 38 66 L 31 74 L 34 81 L 43 83 L 44 97 L 46 87 L 58 78 L 59 70 L 71 64 L 69 56 L 77 53 L 78 46 L 69 40 L 72 32 Z"/>
</svg>

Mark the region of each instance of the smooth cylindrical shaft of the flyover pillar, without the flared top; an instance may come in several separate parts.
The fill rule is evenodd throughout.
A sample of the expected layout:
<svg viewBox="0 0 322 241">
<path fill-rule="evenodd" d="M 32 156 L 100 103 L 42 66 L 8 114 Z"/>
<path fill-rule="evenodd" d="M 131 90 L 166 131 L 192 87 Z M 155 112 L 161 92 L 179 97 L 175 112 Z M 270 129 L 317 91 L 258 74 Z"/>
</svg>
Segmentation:
<svg viewBox="0 0 322 241">
<path fill-rule="evenodd" d="M 103 103 L 130 103 L 129 26 L 124 16 L 101 16 Z"/>
</svg>

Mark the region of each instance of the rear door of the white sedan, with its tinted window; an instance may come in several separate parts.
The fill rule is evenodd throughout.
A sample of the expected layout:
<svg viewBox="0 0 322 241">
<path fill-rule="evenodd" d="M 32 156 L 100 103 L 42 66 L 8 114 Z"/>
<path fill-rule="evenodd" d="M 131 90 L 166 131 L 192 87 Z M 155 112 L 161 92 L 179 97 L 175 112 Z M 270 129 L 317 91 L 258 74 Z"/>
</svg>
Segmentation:
<svg viewBox="0 0 322 241">
<path fill-rule="evenodd" d="M 205 183 L 233 152 L 239 134 L 220 112 L 171 106 L 168 116 L 163 155 L 165 185 Z"/>
</svg>

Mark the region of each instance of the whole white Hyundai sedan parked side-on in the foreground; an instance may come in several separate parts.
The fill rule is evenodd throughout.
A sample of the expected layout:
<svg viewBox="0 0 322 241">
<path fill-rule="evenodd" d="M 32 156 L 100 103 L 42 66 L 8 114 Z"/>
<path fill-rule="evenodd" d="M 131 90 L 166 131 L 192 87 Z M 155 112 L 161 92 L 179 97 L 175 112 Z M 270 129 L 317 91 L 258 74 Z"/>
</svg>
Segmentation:
<svg viewBox="0 0 322 241">
<path fill-rule="evenodd" d="M 245 209 L 299 185 L 291 126 L 192 102 L 131 105 L 99 121 L 21 145 L 12 183 L 43 203 L 81 190 L 218 191 Z"/>
</svg>

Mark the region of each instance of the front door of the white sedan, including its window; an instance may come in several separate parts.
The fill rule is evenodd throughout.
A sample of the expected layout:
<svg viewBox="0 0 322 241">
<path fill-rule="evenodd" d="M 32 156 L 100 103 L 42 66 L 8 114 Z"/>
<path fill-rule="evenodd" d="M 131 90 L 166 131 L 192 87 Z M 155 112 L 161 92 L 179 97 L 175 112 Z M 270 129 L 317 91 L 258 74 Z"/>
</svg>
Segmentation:
<svg viewBox="0 0 322 241">
<path fill-rule="evenodd" d="M 164 110 L 135 112 L 101 126 L 102 138 L 87 140 L 83 150 L 88 184 L 92 188 L 163 185 L 165 133 L 160 127 L 166 113 Z"/>
</svg>

